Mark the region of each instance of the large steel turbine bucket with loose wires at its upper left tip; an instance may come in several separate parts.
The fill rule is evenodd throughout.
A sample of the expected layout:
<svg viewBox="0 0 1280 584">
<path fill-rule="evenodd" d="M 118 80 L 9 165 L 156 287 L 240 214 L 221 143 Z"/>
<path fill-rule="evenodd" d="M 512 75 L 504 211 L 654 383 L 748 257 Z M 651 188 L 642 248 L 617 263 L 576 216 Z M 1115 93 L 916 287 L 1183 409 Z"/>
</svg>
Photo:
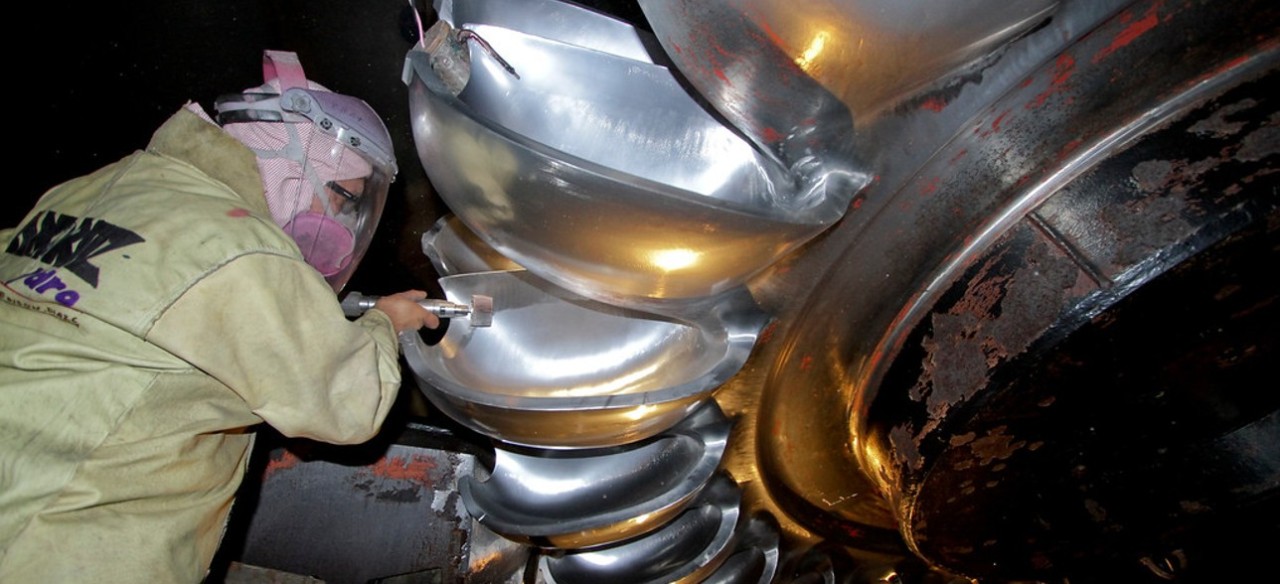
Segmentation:
<svg viewBox="0 0 1280 584">
<path fill-rule="evenodd" d="M 603 17 L 602 17 L 603 18 Z M 410 51 L 419 158 L 451 210 L 539 277 L 614 305 L 741 286 L 867 178 L 755 150 L 667 68 L 488 24 L 454 96 Z"/>
</svg>

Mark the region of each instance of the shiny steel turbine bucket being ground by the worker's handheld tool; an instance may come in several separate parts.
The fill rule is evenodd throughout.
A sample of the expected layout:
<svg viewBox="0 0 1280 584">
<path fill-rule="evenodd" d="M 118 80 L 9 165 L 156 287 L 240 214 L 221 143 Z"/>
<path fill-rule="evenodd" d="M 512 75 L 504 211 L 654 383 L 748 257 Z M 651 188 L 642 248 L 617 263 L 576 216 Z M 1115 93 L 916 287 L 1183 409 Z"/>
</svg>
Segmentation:
<svg viewBox="0 0 1280 584">
<path fill-rule="evenodd" d="M 691 414 L 746 361 L 768 320 L 749 296 L 681 320 L 579 297 L 526 270 L 440 279 L 449 300 L 494 298 L 493 325 L 401 336 L 436 407 L 513 444 L 636 442 Z"/>
</svg>

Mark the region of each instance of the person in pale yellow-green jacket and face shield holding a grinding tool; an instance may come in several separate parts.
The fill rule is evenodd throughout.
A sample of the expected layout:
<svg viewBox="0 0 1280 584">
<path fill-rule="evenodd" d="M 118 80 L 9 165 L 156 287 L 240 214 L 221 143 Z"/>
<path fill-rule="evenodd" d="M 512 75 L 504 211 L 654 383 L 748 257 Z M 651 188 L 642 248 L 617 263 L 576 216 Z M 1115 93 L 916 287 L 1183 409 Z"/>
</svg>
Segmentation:
<svg viewBox="0 0 1280 584">
<path fill-rule="evenodd" d="M 264 73 L 0 231 L 0 581 L 201 581 L 253 428 L 370 439 L 397 333 L 439 325 L 422 291 L 343 315 L 390 136 L 293 53 Z"/>
</svg>

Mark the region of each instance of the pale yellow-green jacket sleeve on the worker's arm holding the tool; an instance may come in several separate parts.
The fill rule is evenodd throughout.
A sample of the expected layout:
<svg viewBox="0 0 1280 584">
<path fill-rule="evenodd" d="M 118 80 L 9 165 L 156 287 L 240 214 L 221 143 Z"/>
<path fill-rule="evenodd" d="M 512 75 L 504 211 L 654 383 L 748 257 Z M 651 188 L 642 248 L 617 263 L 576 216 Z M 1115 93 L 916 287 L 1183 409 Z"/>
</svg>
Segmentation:
<svg viewBox="0 0 1280 584">
<path fill-rule="evenodd" d="M 390 319 L 370 310 L 348 320 L 319 273 L 278 255 L 242 256 L 207 274 L 147 339 L 221 382 L 288 437 L 365 442 L 401 384 Z"/>
</svg>

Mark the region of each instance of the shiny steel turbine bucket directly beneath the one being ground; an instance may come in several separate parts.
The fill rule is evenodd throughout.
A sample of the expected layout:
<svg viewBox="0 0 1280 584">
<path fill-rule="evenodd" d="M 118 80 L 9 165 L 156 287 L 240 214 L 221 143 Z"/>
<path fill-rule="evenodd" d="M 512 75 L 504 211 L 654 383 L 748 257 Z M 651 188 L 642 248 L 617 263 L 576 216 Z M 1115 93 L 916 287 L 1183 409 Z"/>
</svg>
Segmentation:
<svg viewBox="0 0 1280 584">
<path fill-rule="evenodd" d="M 646 441 L 612 448 L 498 446 L 488 478 L 463 476 L 467 511 L 508 539 L 582 549 L 653 531 L 707 485 L 732 424 L 714 401 Z"/>
</svg>

